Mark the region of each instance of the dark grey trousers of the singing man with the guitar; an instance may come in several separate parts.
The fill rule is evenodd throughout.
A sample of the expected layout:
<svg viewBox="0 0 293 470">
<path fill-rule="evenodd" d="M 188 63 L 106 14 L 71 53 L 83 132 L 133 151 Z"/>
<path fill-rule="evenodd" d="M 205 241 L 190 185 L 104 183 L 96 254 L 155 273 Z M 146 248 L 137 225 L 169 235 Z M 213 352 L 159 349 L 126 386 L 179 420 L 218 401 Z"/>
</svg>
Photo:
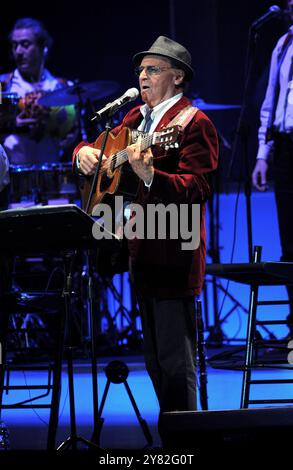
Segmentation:
<svg viewBox="0 0 293 470">
<path fill-rule="evenodd" d="M 196 410 L 194 298 L 139 298 L 146 368 L 160 411 Z"/>
</svg>

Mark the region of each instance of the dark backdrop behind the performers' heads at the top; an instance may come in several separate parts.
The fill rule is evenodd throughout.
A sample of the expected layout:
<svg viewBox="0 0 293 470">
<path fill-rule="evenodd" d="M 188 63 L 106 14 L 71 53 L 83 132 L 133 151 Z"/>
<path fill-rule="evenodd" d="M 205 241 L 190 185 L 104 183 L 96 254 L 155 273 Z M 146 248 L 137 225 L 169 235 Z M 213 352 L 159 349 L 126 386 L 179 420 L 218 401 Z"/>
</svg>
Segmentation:
<svg viewBox="0 0 293 470">
<path fill-rule="evenodd" d="M 275 2 L 284 8 L 285 1 Z M 195 78 L 188 94 L 208 102 L 240 104 L 249 25 L 272 5 L 267 0 L 149 0 L 147 2 L 11 2 L 0 18 L 0 71 L 11 70 L 7 35 L 23 16 L 42 20 L 54 38 L 48 68 L 58 76 L 81 81 L 116 80 L 120 91 L 136 86 L 131 58 L 147 49 L 158 35 L 184 44 L 193 55 Z M 270 53 L 286 24 L 272 19 L 263 26 L 252 73 L 247 122 L 250 166 L 256 151 L 259 106 L 264 96 Z M 100 100 L 102 106 L 108 97 Z M 239 112 L 208 113 L 220 133 L 232 142 Z M 226 172 L 231 157 L 222 152 Z M 241 152 L 239 151 L 239 155 Z M 241 172 L 240 157 L 235 168 Z M 236 171 L 236 173 L 237 173 Z"/>
</svg>

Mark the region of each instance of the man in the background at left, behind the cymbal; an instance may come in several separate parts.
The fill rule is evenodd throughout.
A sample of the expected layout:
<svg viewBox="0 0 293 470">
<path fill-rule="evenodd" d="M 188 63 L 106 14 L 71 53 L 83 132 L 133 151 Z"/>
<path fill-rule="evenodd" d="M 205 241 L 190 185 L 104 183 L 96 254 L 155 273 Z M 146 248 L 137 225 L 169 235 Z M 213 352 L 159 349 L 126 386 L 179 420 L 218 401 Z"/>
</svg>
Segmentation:
<svg viewBox="0 0 293 470">
<path fill-rule="evenodd" d="M 38 104 L 44 93 L 69 84 L 45 67 L 52 38 L 40 21 L 21 18 L 9 39 L 16 68 L 0 75 L 0 81 L 4 91 L 19 98 L 15 133 L 4 141 L 10 163 L 58 162 L 77 132 L 74 106 L 45 108 Z"/>
</svg>

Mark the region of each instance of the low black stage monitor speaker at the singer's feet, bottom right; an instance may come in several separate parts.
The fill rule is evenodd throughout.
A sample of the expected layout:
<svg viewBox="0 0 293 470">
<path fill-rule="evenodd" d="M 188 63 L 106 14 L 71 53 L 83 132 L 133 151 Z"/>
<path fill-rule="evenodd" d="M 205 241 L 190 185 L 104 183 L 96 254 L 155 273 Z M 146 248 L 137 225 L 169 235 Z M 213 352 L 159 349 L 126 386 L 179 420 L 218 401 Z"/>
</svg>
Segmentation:
<svg viewBox="0 0 293 470">
<path fill-rule="evenodd" d="M 293 406 L 163 413 L 160 434 L 170 449 L 293 449 Z"/>
</svg>

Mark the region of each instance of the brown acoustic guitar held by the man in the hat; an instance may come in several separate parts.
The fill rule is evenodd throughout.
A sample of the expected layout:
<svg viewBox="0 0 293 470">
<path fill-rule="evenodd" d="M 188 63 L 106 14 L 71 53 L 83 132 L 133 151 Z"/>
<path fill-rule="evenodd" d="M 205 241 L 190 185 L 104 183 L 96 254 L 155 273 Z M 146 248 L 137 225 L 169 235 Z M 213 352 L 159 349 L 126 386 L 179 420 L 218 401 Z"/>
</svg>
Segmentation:
<svg viewBox="0 0 293 470">
<path fill-rule="evenodd" d="M 153 134 L 141 134 L 141 149 L 146 150 L 153 145 L 159 145 L 165 149 L 178 146 L 179 129 L 179 126 L 173 126 Z M 133 143 L 138 135 L 137 131 L 127 127 L 123 128 L 116 137 L 111 132 L 109 133 L 104 151 L 107 160 L 103 160 L 101 164 L 96 189 L 88 211 L 90 214 L 93 207 L 100 202 L 111 204 L 113 195 L 123 195 L 130 200 L 135 196 L 139 178 L 128 163 L 126 147 Z M 101 149 L 103 138 L 104 132 L 94 144 L 96 149 Z M 87 206 L 93 179 L 94 176 L 84 177 L 80 182 L 83 209 Z"/>
</svg>

